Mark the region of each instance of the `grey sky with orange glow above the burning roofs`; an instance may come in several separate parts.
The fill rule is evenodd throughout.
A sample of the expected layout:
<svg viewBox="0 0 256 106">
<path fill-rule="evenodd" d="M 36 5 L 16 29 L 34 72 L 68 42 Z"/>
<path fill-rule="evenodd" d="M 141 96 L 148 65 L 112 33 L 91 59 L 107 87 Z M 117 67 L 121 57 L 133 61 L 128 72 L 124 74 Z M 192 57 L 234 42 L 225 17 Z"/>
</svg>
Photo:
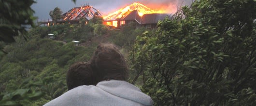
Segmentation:
<svg viewBox="0 0 256 106">
<path fill-rule="evenodd" d="M 88 3 L 94 8 L 100 10 L 103 15 L 115 12 L 119 8 L 128 6 L 133 2 L 140 2 L 149 8 L 160 8 L 168 10 L 169 13 L 175 12 L 177 5 L 190 5 L 192 0 L 77 0 L 73 3 L 71 0 L 35 0 L 37 3 L 33 4 L 31 8 L 35 11 L 35 16 L 42 19 L 50 19 L 49 12 L 58 7 L 63 13 L 66 13 L 73 7 L 80 7 Z"/>
</svg>

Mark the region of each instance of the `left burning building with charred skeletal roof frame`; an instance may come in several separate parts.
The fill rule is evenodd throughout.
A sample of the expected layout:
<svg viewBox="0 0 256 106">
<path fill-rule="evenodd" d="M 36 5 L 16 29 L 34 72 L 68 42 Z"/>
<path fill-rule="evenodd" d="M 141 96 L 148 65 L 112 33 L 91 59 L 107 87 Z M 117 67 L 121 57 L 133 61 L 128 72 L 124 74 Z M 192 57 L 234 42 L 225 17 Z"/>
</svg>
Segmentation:
<svg viewBox="0 0 256 106">
<path fill-rule="evenodd" d="M 57 20 L 57 24 L 61 23 L 70 23 L 70 24 L 78 24 L 80 19 L 85 19 L 85 24 L 93 18 L 94 15 L 101 15 L 100 11 L 93 8 L 90 5 L 84 5 L 81 7 L 74 7 L 68 12 L 62 14 L 62 19 Z M 43 25 L 47 24 L 49 26 L 50 24 L 53 24 L 53 21 L 44 21 L 41 22 Z"/>
</svg>

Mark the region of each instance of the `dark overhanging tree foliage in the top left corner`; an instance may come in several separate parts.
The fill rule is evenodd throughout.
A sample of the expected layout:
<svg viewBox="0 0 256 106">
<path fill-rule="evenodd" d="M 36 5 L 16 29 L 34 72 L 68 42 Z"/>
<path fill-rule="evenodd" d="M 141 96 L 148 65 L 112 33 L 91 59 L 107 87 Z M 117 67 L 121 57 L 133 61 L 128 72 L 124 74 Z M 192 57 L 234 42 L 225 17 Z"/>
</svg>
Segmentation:
<svg viewBox="0 0 256 106">
<path fill-rule="evenodd" d="M 30 8 L 33 3 L 34 0 L 0 0 L 0 41 L 14 42 L 18 35 L 27 39 L 26 26 L 34 26 L 34 11 Z"/>
</svg>

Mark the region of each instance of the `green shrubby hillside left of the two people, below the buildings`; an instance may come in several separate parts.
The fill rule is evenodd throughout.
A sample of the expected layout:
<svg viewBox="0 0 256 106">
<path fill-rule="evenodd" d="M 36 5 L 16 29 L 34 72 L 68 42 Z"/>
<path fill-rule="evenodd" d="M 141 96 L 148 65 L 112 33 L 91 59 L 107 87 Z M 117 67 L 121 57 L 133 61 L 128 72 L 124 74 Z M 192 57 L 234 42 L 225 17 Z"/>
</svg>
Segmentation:
<svg viewBox="0 0 256 106">
<path fill-rule="evenodd" d="M 42 106 L 65 93 L 66 72 L 71 64 L 88 61 L 99 43 L 114 43 L 125 37 L 121 36 L 125 32 L 110 30 L 108 27 L 104 29 L 104 33 L 99 33 L 97 31 L 102 28 L 95 31 L 95 26 L 106 27 L 92 21 L 87 25 L 81 23 L 35 27 L 29 30 L 28 41 L 16 37 L 15 43 L 6 45 L 4 51 L 7 54 L 0 61 L 0 97 L 3 97 L 0 98 L 0 105 Z M 144 28 L 142 29 L 139 32 L 142 33 Z M 127 29 L 130 32 L 132 30 L 135 29 Z M 130 36 L 135 40 L 141 34 L 139 32 Z M 49 39 L 49 33 L 55 35 L 54 40 Z M 115 35 L 116 33 L 119 35 Z M 81 43 L 76 46 L 72 40 Z M 39 100 L 32 101 L 39 97 Z"/>
</svg>

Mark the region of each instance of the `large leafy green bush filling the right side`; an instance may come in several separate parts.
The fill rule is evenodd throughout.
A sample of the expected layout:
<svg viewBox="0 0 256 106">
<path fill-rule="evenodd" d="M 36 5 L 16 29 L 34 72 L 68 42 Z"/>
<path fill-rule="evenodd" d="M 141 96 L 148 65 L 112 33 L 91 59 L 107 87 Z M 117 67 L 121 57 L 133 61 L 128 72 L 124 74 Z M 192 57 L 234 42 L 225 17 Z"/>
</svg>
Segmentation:
<svg viewBox="0 0 256 106">
<path fill-rule="evenodd" d="M 157 106 L 253 106 L 255 45 L 255 0 L 197 0 L 138 36 L 130 58 Z"/>
</svg>

